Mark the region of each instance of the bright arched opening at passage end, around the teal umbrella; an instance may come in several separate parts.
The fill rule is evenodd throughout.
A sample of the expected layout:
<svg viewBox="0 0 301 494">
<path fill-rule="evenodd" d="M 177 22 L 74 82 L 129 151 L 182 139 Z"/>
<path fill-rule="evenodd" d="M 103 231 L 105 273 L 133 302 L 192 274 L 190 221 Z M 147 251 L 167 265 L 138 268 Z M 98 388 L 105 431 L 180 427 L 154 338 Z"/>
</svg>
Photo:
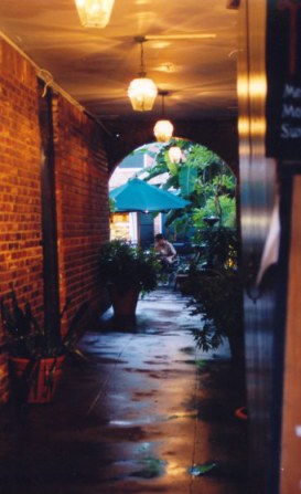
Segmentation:
<svg viewBox="0 0 301 494">
<path fill-rule="evenodd" d="M 178 157 L 171 156 L 173 150 L 178 150 Z M 219 228 L 236 230 L 236 177 L 207 147 L 180 138 L 141 146 L 116 167 L 110 190 L 135 176 L 172 191 L 189 206 L 170 211 L 159 208 L 150 214 L 123 212 L 111 201 L 111 239 L 122 238 L 147 248 L 153 235 L 162 232 L 179 246 L 202 243 L 204 231 L 211 228 L 208 218 L 215 218 Z"/>
</svg>

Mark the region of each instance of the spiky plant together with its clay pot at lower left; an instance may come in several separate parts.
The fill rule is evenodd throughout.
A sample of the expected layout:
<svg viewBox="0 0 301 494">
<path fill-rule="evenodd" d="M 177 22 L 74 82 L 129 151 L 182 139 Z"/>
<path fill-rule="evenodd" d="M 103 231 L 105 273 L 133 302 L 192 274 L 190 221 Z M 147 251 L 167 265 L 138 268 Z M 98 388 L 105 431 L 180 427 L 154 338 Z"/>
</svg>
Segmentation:
<svg viewBox="0 0 301 494">
<path fill-rule="evenodd" d="M 31 305 L 28 302 L 24 308 L 19 305 L 11 285 L 10 294 L 1 298 L 1 318 L 11 377 L 19 398 L 29 403 L 47 403 L 53 400 L 66 355 L 82 356 L 76 343 L 82 336 L 78 323 L 86 309 L 85 303 L 75 314 L 66 335 L 58 340 L 53 339 L 37 323 Z"/>
</svg>

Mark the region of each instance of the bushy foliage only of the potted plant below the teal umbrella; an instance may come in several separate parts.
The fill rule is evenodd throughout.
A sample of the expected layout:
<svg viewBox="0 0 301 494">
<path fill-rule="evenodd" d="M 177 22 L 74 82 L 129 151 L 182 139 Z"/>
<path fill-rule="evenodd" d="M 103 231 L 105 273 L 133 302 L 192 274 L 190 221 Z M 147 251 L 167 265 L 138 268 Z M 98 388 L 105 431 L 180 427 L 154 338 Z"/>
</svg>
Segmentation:
<svg viewBox="0 0 301 494">
<path fill-rule="evenodd" d="M 160 263 L 154 252 L 144 252 L 120 240 L 105 243 L 98 257 L 99 276 L 114 284 L 120 294 L 137 286 L 142 293 L 157 287 Z"/>
</svg>

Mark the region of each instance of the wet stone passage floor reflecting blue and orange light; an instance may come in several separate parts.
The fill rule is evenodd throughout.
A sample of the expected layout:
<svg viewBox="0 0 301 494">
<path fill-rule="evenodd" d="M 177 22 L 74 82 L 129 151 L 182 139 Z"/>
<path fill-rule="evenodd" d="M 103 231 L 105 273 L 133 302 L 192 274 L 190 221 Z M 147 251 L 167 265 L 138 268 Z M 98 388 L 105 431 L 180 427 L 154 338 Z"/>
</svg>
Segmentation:
<svg viewBox="0 0 301 494">
<path fill-rule="evenodd" d="M 226 344 L 196 350 L 198 324 L 163 287 L 139 301 L 136 324 L 107 312 L 53 403 L 0 411 L 0 492 L 247 493 L 243 379 Z"/>
</svg>

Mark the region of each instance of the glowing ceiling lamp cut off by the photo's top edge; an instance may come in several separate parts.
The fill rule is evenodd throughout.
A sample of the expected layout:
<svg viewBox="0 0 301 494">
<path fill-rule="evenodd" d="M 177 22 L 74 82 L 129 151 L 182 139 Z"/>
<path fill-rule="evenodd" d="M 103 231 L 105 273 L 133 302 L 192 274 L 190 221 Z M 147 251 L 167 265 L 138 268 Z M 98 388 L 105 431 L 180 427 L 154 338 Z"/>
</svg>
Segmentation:
<svg viewBox="0 0 301 494">
<path fill-rule="evenodd" d="M 84 28 L 106 28 L 115 0 L 75 0 Z"/>
</svg>

